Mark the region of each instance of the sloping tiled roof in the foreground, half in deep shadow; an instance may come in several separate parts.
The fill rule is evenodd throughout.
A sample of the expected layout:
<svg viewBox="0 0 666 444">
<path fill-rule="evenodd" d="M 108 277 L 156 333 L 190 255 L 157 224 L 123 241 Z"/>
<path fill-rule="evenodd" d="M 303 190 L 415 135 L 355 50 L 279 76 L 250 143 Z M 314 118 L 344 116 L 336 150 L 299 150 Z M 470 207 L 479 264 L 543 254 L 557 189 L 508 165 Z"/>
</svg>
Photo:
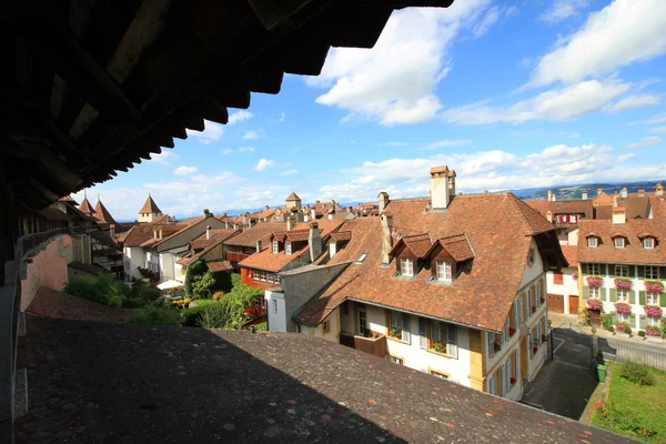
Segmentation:
<svg viewBox="0 0 666 444">
<path fill-rule="evenodd" d="M 19 443 L 620 443 L 299 334 L 28 319 Z"/>
</svg>

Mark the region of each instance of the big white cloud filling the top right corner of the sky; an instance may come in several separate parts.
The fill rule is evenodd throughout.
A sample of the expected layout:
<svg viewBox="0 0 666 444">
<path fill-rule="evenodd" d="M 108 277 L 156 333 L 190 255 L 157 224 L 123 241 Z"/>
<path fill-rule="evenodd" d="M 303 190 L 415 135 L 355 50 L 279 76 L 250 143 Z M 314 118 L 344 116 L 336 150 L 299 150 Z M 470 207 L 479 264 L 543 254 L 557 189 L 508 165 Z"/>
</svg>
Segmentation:
<svg viewBox="0 0 666 444">
<path fill-rule="evenodd" d="M 615 0 L 544 56 L 533 85 L 578 82 L 666 52 L 666 1 Z"/>
</svg>

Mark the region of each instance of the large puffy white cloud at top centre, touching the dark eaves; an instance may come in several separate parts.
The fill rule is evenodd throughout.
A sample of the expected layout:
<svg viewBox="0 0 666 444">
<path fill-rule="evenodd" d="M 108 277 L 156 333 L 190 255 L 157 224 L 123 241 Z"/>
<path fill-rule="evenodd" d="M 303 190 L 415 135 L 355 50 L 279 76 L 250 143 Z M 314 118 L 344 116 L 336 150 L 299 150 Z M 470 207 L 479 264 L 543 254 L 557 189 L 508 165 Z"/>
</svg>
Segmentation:
<svg viewBox="0 0 666 444">
<path fill-rule="evenodd" d="M 452 65 L 447 49 L 465 30 L 487 30 L 493 21 L 492 12 L 484 16 L 488 3 L 467 0 L 448 9 L 395 11 L 372 50 L 329 53 L 321 75 L 307 80 L 310 85 L 332 85 L 316 102 L 349 111 L 343 121 L 371 119 L 393 125 L 434 118 L 442 108 L 435 87 Z"/>
</svg>

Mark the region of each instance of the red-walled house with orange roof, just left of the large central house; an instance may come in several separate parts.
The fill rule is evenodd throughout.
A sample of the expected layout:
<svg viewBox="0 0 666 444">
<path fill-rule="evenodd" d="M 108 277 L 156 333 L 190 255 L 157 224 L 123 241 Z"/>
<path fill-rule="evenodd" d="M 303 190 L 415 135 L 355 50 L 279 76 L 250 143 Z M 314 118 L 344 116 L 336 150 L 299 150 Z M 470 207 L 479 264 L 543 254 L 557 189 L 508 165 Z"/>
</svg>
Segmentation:
<svg viewBox="0 0 666 444">
<path fill-rule="evenodd" d="M 321 220 L 295 224 L 287 221 L 287 230 L 272 232 L 258 240 L 256 253 L 239 262 L 242 281 L 260 289 L 280 283 L 278 273 L 315 262 L 323 253 L 324 242 L 334 233 L 342 220 Z"/>
</svg>

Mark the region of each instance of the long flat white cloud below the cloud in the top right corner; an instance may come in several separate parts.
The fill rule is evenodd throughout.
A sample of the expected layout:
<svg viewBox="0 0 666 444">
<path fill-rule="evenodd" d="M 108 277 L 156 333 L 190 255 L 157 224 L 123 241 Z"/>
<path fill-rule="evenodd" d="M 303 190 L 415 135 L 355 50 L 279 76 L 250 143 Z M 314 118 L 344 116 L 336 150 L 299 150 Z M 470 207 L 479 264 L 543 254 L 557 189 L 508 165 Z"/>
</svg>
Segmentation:
<svg viewBox="0 0 666 444">
<path fill-rule="evenodd" d="M 592 111 L 602 110 L 610 100 L 625 93 L 632 83 L 588 80 L 561 89 L 542 92 L 508 108 L 490 107 L 477 102 L 445 110 L 450 123 L 491 124 L 523 123 L 529 120 L 564 121 Z"/>
</svg>

